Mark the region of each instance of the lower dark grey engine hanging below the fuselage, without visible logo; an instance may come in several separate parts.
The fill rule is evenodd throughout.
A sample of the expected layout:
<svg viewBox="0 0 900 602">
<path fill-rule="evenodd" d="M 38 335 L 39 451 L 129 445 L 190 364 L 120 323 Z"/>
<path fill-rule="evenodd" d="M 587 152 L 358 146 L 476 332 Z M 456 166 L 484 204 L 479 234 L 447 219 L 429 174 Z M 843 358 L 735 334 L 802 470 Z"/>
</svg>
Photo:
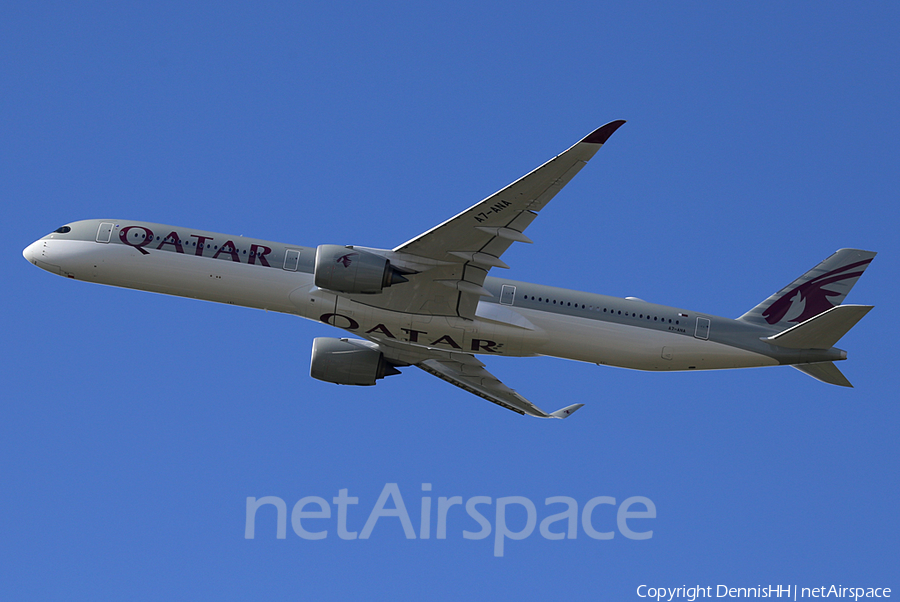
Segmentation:
<svg viewBox="0 0 900 602">
<path fill-rule="evenodd" d="M 313 340 L 309 375 L 339 385 L 374 385 L 376 380 L 400 374 L 384 354 L 363 341 L 318 337 Z"/>
</svg>

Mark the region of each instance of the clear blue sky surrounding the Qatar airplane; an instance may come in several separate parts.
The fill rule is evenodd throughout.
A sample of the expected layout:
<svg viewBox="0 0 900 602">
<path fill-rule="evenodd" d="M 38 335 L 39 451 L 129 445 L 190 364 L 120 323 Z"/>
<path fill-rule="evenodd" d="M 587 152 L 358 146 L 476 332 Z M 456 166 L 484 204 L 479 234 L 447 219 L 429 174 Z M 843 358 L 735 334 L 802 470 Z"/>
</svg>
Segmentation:
<svg viewBox="0 0 900 602">
<path fill-rule="evenodd" d="M 0 8 L 0 582 L 17 599 L 639 599 L 640 584 L 897 579 L 900 10 L 888 3 L 7 3 Z M 735 317 L 840 247 L 879 251 L 840 346 L 856 385 L 787 367 L 489 368 L 571 420 L 519 417 L 414 369 L 308 376 L 296 317 L 52 277 L 21 249 L 138 219 L 393 247 L 613 119 L 542 212 L 517 280 Z M 644 496 L 652 538 L 445 540 L 382 518 L 320 541 L 247 497 L 397 483 Z M 430 494 L 422 484 L 431 483 Z M 496 505 L 484 506 L 493 512 Z M 308 510 L 314 507 L 307 508 Z M 459 510 L 457 507 L 455 510 Z M 266 514 L 266 512 L 269 512 Z M 493 522 L 494 518 L 491 517 Z M 598 530 L 615 509 L 598 506 Z M 508 512 L 513 530 L 523 508 Z M 557 523 L 554 530 L 560 530 Z M 313 528 L 313 527 L 311 527 Z"/>
</svg>

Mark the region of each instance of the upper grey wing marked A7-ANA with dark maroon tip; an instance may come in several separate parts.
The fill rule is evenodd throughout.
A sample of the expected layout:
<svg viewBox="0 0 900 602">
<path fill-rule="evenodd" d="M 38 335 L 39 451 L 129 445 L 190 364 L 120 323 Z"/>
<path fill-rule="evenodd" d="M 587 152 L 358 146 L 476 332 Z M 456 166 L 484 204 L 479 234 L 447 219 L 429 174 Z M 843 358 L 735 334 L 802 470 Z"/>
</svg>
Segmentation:
<svg viewBox="0 0 900 602">
<path fill-rule="evenodd" d="M 473 319 L 478 298 L 490 296 L 483 288 L 488 271 L 509 267 L 500 256 L 514 242 L 531 242 L 523 232 L 537 212 L 623 123 L 594 130 L 506 188 L 386 252 L 392 264 L 414 272 L 406 275 L 408 283 L 385 289 L 378 299 L 354 299 L 394 311 Z"/>
</svg>

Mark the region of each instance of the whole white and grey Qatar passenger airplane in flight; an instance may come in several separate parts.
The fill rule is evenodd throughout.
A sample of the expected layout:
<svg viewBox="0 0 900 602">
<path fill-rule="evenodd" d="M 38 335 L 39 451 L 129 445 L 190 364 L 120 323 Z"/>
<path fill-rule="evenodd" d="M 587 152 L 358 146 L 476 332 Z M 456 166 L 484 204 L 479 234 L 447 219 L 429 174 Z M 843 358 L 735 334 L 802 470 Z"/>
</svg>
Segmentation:
<svg viewBox="0 0 900 602">
<path fill-rule="evenodd" d="M 552 356 L 636 370 L 790 365 L 850 387 L 836 348 L 872 306 L 843 305 L 875 257 L 840 249 L 736 319 L 488 276 L 547 203 L 623 124 L 612 121 L 562 154 L 395 247 L 283 244 L 120 219 L 76 221 L 28 245 L 48 272 L 324 322 L 355 338 L 313 340 L 310 375 L 374 385 L 416 366 L 499 406 L 545 412 L 479 359 Z"/>
</svg>

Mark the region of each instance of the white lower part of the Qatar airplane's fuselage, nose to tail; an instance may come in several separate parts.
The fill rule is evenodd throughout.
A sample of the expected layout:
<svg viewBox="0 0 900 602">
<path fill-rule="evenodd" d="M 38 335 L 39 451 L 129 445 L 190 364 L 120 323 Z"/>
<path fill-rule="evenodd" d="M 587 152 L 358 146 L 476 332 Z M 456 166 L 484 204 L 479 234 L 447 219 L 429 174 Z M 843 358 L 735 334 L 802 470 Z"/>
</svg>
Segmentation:
<svg viewBox="0 0 900 602">
<path fill-rule="evenodd" d="M 220 241 L 228 238 L 218 236 Z M 230 240 L 238 241 L 236 246 L 241 247 L 240 237 Z M 637 319 L 634 323 L 606 319 L 599 313 L 599 302 L 597 312 L 585 315 L 562 313 L 551 306 L 534 307 L 533 303 L 497 303 L 496 299 L 482 300 L 474 320 L 418 315 L 380 309 L 359 301 L 359 296 L 354 301 L 317 288 L 312 273 L 297 269 L 303 265 L 302 260 L 293 261 L 293 269 L 282 269 L 278 265 L 248 263 L 246 248 L 238 260 L 213 258 L 209 253 L 198 255 L 192 248 L 175 252 L 174 247 L 156 250 L 153 245 L 147 249 L 150 251 L 145 253 L 135 245 L 115 240 L 104 244 L 50 235 L 30 245 L 23 254 L 39 267 L 78 280 L 295 314 L 372 341 L 474 354 L 546 355 L 639 370 L 703 370 L 779 363 L 761 353 L 715 342 L 708 335 L 695 336 L 694 326 L 687 326 L 686 319 L 684 328 L 668 330 L 648 327 Z M 301 257 L 310 251 L 304 247 L 293 249 Z M 288 257 L 291 255 L 286 251 L 285 258 Z M 491 280 L 495 280 L 498 289 L 508 282 Z M 539 286 L 515 284 L 520 290 Z M 595 297 L 619 306 L 643 303 Z M 657 313 L 678 311 L 644 305 L 659 309 Z"/>
</svg>

